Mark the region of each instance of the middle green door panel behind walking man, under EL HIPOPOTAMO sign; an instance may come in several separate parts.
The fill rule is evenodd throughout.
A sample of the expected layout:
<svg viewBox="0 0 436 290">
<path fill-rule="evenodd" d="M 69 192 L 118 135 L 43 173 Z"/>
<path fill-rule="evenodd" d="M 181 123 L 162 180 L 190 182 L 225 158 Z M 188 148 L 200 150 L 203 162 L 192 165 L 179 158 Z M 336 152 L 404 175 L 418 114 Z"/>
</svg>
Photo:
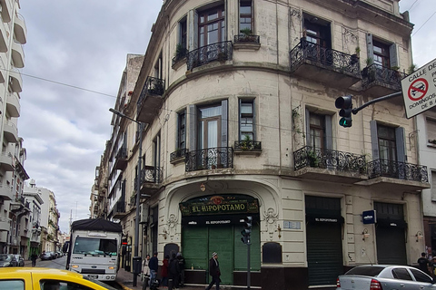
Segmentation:
<svg viewBox="0 0 436 290">
<path fill-rule="evenodd" d="M 218 253 L 220 262 L 221 283 L 233 284 L 233 228 L 225 226 L 209 227 L 209 258 Z M 211 281 L 211 276 L 208 276 Z"/>
</svg>

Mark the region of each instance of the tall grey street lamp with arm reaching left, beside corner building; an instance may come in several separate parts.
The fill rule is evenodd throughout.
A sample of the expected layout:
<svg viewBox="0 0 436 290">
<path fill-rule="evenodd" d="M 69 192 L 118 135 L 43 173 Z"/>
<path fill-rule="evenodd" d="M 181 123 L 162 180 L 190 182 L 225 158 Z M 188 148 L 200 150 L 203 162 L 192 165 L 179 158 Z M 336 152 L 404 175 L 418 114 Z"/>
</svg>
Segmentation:
<svg viewBox="0 0 436 290">
<path fill-rule="evenodd" d="M 145 123 L 142 121 L 136 121 L 129 116 L 124 115 L 121 111 L 116 111 L 114 109 L 109 109 L 115 115 L 122 118 L 134 121 L 139 125 L 139 155 L 138 155 L 138 172 L 136 178 L 136 219 L 134 220 L 134 286 L 136 286 L 136 281 L 138 275 L 141 273 L 141 257 L 138 256 L 138 244 L 139 244 L 139 203 L 141 198 L 141 156 L 143 155 L 143 131 Z"/>
</svg>

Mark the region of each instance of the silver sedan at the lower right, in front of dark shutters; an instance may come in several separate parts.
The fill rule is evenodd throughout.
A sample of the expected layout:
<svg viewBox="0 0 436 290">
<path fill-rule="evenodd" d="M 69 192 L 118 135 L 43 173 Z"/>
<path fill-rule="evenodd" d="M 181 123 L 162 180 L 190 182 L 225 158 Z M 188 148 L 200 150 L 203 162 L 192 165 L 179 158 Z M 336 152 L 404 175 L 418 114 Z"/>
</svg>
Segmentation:
<svg viewBox="0 0 436 290">
<path fill-rule="evenodd" d="M 337 279 L 337 290 L 436 289 L 430 275 L 412 266 L 356 266 Z"/>
</svg>

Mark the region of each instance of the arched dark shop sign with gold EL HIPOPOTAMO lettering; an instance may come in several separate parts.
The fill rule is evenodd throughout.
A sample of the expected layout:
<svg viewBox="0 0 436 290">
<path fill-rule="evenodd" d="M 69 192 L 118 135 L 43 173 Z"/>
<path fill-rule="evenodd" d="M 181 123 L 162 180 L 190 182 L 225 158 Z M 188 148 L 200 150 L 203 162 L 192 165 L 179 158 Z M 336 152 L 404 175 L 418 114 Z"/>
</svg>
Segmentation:
<svg viewBox="0 0 436 290">
<path fill-rule="evenodd" d="M 259 213 L 259 201 L 245 195 L 214 195 L 179 204 L 183 217 Z"/>
</svg>

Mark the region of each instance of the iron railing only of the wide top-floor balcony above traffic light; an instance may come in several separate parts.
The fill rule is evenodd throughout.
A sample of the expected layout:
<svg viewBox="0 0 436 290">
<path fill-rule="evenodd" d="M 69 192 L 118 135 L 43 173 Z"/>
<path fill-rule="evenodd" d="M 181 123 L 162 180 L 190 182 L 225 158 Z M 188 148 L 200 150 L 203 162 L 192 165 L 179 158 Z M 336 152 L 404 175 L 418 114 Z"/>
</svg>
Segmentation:
<svg viewBox="0 0 436 290">
<path fill-rule="evenodd" d="M 291 72 L 294 72 L 302 63 L 309 61 L 315 65 L 334 69 L 341 73 L 350 73 L 358 78 L 361 77 L 360 63 L 357 57 L 310 43 L 307 40 L 302 40 L 292 49 L 290 59 Z"/>
</svg>

